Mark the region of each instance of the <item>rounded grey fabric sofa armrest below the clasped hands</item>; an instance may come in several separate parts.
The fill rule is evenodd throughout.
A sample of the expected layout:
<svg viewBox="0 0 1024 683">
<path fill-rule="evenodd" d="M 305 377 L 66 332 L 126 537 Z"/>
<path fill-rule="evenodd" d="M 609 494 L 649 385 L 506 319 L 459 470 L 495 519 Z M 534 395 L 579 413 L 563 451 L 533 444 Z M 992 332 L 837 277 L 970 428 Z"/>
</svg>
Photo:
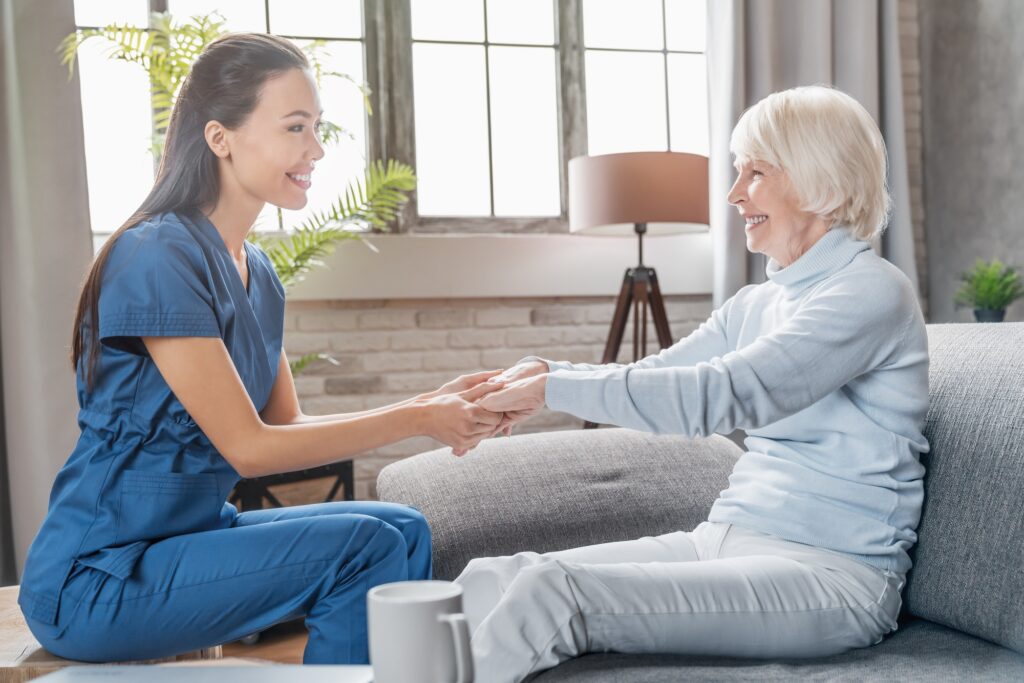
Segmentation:
<svg viewBox="0 0 1024 683">
<path fill-rule="evenodd" d="M 591 429 L 492 438 L 384 468 L 380 500 L 426 515 L 434 574 L 474 557 L 549 552 L 691 530 L 708 518 L 742 451 L 723 436 Z"/>
</svg>

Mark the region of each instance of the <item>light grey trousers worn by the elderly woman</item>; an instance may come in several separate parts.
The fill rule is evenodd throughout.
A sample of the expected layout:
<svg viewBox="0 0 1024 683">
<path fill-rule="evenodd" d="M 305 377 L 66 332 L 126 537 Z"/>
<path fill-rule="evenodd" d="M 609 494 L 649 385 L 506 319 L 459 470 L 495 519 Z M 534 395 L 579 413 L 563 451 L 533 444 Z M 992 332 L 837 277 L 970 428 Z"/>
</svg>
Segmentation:
<svg viewBox="0 0 1024 683">
<path fill-rule="evenodd" d="M 587 652 L 816 657 L 896 630 L 904 574 L 721 522 L 472 560 L 456 579 L 477 683 Z"/>
</svg>

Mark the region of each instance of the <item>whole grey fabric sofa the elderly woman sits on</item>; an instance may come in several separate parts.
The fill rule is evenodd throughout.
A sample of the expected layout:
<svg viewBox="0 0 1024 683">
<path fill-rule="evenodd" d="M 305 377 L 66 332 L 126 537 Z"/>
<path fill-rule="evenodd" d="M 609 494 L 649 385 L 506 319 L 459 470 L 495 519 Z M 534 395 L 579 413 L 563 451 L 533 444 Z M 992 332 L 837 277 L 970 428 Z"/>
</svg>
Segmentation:
<svg viewBox="0 0 1024 683">
<path fill-rule="evenodd" d="M 595 653 L 536 681 L 1024 681 L 1024 324 L 928 334 L 926 499 L 895 633 L 819 659 Z M 722 436 L 527 434 L 395 463 L 378 490 L 426 514 L 452 579 L 472 557 L 691 529 L 740 453 Z"/>
</svg>

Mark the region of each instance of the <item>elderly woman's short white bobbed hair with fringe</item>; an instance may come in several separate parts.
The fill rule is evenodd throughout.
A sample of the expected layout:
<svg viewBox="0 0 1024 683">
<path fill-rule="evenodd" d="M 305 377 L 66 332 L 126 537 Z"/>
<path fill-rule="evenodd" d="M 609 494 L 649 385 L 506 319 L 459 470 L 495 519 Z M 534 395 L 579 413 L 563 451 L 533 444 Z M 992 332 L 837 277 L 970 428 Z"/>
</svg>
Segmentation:
<svg viewBox="0 0 1024 683">
<path fill-rule="evenodd" d="M 775 92 L 746 110 L 732 131 L 737 161 L 782 169 L 801 208 L 858 240 L 885 229 L 892 201 L 878 125 L 850 95 L 825 86 Z"/>
</svg>

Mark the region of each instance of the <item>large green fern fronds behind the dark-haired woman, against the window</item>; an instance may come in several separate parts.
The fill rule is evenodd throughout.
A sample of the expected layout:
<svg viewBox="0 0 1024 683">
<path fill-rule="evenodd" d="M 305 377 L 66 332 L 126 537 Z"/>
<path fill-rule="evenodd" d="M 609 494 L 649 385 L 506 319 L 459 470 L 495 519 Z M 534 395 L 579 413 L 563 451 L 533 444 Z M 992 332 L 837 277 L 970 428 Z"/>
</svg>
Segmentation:
<svg viewBox="0 0 1024 683">
<path fill-rule="evenodd" d="M 153 12 L 146 28 L 112 24 L 100 29 L 76 31 L 61 41 L 58 52 L 61 63 L 68 66 L 69 78 L 73 74 L 79 47 L 92 39 L 106 41 L 110 45 L 109 58 L 137 65 L 145 70 L 154 112 L 152 151 L 156 163 L 159 163 L 171 109 L 181 83 L 203 48 L 225 33 L 223 27 L 224 19 L 217 12 L 193 16 L 183 23 L 176 22 L 169 12 Z M 347 74 L 324 68 L 325 45 L 324 41 L 312 41 L 303 48 L 317 85 L 325 78 L 351 82 L 362 93 L 364 104 L 372 115 L 369 90 L 365 86 Z M 321 136 L 325 145 L 338 141 L 343 135 L 352 137 L 349 131 L 337 124 L 323 123 Z M 287 289 L 301 282 L 311 269 L 323 266 L 322 259 L 340 242 L 360 240 L 376 251 L 364 234 L 389 229 L 399 208 L 408 200 L 408 194 L 415 187 L 416 174 L 411 166 L 394 160 L 376 160 L 368 165 L 361 180 L 349 183 L 330 207 L 292 226 L 285 237 L 254 230 L 249 240 L 267 253 Z M 300 373 L 317 358 L 333 360 L 323 353 L 309 353 L 291 361 L 292 373 Z"/>
</svg>

